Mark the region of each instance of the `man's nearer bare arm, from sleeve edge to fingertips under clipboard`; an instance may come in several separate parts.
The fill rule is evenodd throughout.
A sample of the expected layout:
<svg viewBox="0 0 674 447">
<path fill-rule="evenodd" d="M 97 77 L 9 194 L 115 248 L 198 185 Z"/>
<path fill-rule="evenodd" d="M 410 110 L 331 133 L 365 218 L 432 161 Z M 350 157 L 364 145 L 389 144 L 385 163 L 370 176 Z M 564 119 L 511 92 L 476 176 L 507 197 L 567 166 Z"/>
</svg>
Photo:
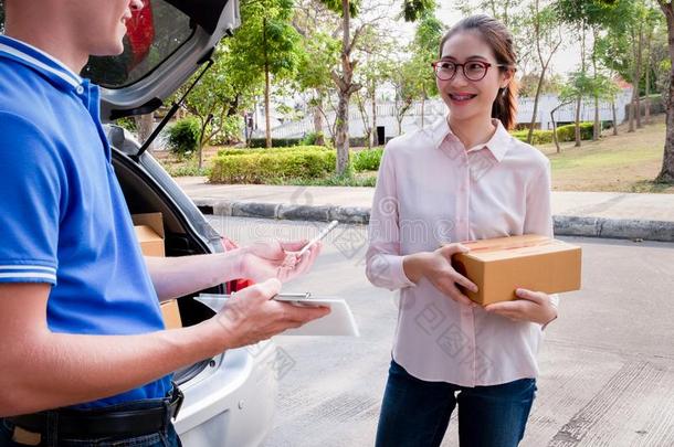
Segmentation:
<svg viewBox="0 0 674 447">
<path fill-rule="evenodd" d="M 119 394 L 328 311 L 270 300 L 280 289 L 275 279 L 249 287 L 238 292 L 238 302 L 189 328 L 138 336 L 81 336 L 49 330 L 49 285 L 1 284 L 0 417 Z"/>
</svg>

